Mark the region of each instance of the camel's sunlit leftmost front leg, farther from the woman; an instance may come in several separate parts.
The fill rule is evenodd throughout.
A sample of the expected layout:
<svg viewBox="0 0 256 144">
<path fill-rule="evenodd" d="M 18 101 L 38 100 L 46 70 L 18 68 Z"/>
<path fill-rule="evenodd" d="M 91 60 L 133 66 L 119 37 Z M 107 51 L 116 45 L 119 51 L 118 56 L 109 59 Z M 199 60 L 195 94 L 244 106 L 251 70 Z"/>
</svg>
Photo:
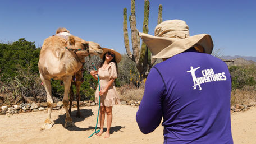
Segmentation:
<svg viewBox="0 0 256 144">
<path fill-rule="evenodd" d="M 52 124 L 51 124 L 52 122 L 50 119 L 51 119 L 51 113 L 52 113 L 53 99 L 52 99 L 51 82 L 47 78 L 44 78 L 42 75 L 40 75 L 40 78 L 44 83 L 44 88 L 47 94 L 47 106 L 48 106 L 47 118 L 44 121 L 44 125 L 41 127 L 41 130 L 44 130 L 44 129 L 52 128 Z"/>
</svg>

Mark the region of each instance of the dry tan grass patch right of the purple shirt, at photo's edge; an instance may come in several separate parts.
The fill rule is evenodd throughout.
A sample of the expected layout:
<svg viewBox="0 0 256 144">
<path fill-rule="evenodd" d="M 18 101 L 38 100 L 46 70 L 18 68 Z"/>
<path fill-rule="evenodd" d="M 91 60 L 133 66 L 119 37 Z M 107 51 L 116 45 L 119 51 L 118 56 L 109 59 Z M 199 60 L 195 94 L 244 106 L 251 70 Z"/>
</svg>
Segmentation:
<svg viewBox="0 0 256 144">
<path fill-rule="evenodd" d="M 256 90 L 254 87 L 244 87 L 243 89 L 235 89 L 231 92 L 231 106 L 235 104 L 255 105 Z"/>
</svg>

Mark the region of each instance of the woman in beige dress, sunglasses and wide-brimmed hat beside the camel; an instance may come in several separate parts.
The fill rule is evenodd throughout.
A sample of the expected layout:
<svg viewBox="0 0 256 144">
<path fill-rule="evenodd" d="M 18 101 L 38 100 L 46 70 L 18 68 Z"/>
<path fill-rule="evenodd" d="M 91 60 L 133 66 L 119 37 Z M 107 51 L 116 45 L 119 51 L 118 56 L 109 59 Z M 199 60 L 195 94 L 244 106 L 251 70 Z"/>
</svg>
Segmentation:
<svg viewBox="0 0 256 144">
<path fill-rule="evenodd" d="M 110 136 L 110 127 L 112 123 L 112 108 L 113 105 L 120 104 L 120 99 L 117 95 L 115 87 L 115 79 L 117 78 L 117 63 L 121 61 L 121 54 L 113 49 L 103 48 L 103 54 L 100 55 L 102 63 L 98 66 L 98 71 L 90 71 L 96 80 L 99 76 L 99 87 L 97 87 L 95 92 L 95 101 L 99 103 L 100 96 L 100 113 L 99 113 L 99 123 L 100 132 L 96 135 L 101 136 L 103 133 L 103 126 L 105 120 L 105 113 L 107 114 L 107 131 L 104 138 Z M 98 75 L 98 76 L 97 76 Z"/>
</svg>

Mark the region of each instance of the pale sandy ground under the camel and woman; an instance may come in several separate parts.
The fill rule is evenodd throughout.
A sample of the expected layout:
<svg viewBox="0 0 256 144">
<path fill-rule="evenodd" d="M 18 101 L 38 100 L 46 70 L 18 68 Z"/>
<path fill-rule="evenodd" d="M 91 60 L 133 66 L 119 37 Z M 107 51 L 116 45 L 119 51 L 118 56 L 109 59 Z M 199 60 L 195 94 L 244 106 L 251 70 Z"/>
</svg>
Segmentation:
<svg viewBox="0 0 256 144">
<path fill-rule="evenodd" d="M 65 110 L 53 110 L 51 129 L 40 131 L 47 111 L 13 115 L 0 115 L 0 143 L 163 143 L 163 127 L 150 134 L 140 132 L 135 115 L 138 107 L 113 106 L 111 137 L 92 136 L 97 119 L 98 106 L 83 107 L 83 118 L 76 118 L 72 109 L 74 127 L 64 128 Z M 232 136 L 234 143 L 256 143 L 256 108 L 246 112 L 232 113 Z M 106 126 L 106 124 L 105 124 Z"/>
</svg>

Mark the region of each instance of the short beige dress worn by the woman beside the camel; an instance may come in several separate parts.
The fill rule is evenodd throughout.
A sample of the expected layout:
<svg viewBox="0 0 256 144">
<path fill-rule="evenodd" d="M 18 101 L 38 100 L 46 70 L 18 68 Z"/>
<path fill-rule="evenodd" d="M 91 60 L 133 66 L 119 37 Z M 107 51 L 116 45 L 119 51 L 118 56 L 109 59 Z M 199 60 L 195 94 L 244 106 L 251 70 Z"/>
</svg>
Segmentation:
<svg viewBox="0 0 256 144">
<path fill-rule="evenodd" d="M 98 68 L 98 75 L 100 90 L 103 90 L 108 85 L 109 80 L 117 78 L 116 64 L 110 62 L 106 68 Z M 95 92 L 95 101 L 99 104 L 99 85 Z M 120 99 L 116 91 L 115 83 L 113 83 L 108 91 L 103 96 L 100 96 L 100 105 L 109 107 L 116 104 L 120 104 Z"/>
</svg>

